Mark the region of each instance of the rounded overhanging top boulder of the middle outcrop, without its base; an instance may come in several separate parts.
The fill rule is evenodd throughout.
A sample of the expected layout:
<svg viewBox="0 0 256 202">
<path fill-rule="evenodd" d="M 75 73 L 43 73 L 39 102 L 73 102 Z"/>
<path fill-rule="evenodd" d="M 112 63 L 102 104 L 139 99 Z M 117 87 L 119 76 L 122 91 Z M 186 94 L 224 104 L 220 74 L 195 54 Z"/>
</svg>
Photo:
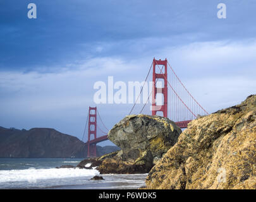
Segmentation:
<svg viewBox="0 0 256 202">
<path fill-rule="evenodd" d="M 155 162 L 178 140 L 181 129 L 173 121 L 160 116 L 131 115 L 118 122 L 107 134 L 123 151 L 123 160 L 136 160 L 150 151 Z"/>
</svg>

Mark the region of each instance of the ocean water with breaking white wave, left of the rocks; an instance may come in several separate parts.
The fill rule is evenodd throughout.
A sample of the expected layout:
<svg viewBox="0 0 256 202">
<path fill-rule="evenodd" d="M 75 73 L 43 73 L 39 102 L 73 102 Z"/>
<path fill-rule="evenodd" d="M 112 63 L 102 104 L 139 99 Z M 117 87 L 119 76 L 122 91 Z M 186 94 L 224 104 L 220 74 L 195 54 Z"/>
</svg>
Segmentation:
<svg viewBox="0 0 256 202">
<path fill-rule="evenodd" d="M 95 169 L 56 169 L 77 165 L 78 158 L 0 158 L 0 189 L 138 189 L 147 174 L 108 174 L 91 181 Z"/>
</svg>

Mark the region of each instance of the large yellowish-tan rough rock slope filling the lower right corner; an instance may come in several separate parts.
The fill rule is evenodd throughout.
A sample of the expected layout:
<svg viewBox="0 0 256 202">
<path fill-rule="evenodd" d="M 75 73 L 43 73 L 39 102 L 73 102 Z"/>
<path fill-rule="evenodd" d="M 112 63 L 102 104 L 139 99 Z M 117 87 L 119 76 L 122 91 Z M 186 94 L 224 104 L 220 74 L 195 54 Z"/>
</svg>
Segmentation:
<svg viewBox="0 0 256 202">
<path fill-rule="evenodd" d="M 147 189 L 256 189 L 256 95 L 198 117 L 150 170 Z"/>
</svg>

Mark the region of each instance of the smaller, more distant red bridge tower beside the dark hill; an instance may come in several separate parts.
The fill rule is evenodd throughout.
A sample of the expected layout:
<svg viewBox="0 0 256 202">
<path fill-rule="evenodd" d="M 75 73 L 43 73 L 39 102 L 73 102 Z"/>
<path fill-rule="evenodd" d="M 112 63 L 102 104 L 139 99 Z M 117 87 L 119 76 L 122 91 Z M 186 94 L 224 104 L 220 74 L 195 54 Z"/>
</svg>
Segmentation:
<svg viewBox="0 0 256 202">
<path fill-rule="evenodd" d="M 96 143 L 90 143 L 90 136 L 97 136 L 97 107 L 89 107 L 87 157 L 96 157 Z"/>
</svg>

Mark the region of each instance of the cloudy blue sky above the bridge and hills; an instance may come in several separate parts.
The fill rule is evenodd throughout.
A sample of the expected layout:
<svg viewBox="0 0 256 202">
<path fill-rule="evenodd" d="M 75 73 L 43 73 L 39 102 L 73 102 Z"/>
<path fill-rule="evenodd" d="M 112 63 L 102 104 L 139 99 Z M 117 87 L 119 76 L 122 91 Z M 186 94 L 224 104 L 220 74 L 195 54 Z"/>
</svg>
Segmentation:
<svg viewBox="0 0 256 202">
<path fill-rule="evenodd" d="M 0 126 L 81 139 L 94 83 L 143 81 L 154 57 L 208 112 L 238 104 L 256 93 L 255 9 L 254 0 L 1 0 Z M 132 105 L 97 107 L 111 128 Z"/>
</svg>

